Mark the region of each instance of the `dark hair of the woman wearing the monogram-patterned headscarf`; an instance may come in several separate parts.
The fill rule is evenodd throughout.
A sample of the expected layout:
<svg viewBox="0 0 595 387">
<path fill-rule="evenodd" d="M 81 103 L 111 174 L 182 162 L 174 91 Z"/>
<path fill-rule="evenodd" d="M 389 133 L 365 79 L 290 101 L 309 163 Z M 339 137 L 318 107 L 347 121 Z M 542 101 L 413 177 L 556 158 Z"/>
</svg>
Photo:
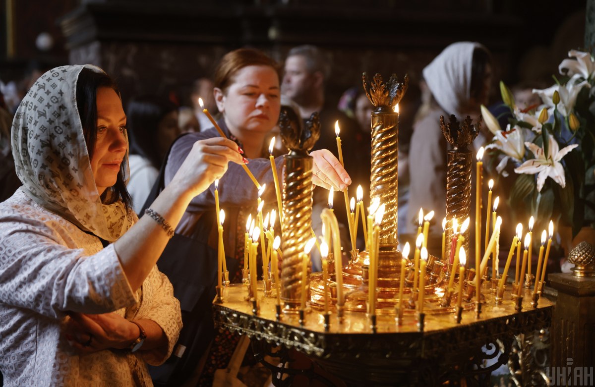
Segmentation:
<svg viewBox="0 0 595 387">
<path fill-rule="evenodd" d="M 76 83 L 76 106 L 79 110 L 80 122 L 83 124 L 84 141 L 87 144 L 89 159 L 93 157 L 95 141 L 97 139 L 97 90 L 100 87 L 109 87 L 120 96 L 120 90 L 109 75 L 97 73 L 90 68 L 83 68 Z M 101 195 L 101 201 L 111 204 L 121 199 L 127 209 L 132 207 L 132 199 L 126 189 L 125 171 L 127 159 L 120 164 L 118 178 L 112 187 Z"/>
</svg>

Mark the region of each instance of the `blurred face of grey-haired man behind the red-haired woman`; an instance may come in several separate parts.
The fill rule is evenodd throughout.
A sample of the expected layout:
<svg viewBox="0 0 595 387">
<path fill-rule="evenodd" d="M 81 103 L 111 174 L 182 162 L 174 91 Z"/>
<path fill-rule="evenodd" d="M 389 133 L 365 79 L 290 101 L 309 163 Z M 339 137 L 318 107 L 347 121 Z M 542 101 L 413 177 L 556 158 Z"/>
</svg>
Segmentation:
<svg viewBox="0 0 595 387">
<path fill-rule="evenodd" d="M 287 57 L 283 84 L 281 85 L 283 95 L 290 97 L 298 105 L 303 105 L 312 96 L 318 83 L 315 74 L 308 72 L 304 56 Z"/>
</svg>

